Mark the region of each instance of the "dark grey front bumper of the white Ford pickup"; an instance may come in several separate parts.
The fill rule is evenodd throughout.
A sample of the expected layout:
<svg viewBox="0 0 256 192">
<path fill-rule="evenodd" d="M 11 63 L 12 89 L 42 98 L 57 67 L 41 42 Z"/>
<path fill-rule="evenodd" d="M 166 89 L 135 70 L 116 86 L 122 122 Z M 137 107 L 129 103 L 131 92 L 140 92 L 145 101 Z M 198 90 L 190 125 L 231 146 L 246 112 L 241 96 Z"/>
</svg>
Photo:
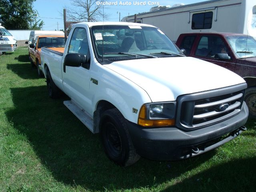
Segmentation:
<svg viewBox="0 0 256 192">
<path fill-rule="evenodd" d="M 136 152 L 152 160 L 181 160 L 212 150 L 234 138 L 242 131 L 248 118 L 243 102 L 239 114 L 208 127 L 183 131 L 177 127 L 144 128 L 128 122 L 129 133 Z"/>
</svg>

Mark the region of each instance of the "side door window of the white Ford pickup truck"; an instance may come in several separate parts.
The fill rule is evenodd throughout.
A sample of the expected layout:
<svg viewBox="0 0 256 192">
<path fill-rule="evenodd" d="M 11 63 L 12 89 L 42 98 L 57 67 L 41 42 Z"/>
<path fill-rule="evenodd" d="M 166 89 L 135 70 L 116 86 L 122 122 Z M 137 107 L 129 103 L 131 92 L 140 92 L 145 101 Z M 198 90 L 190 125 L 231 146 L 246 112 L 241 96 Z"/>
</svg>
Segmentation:
<svg viewBox="0 0 256 192">
<path fill-rule="evenodd" d="M 89 45 L 86 30 L 84 28 L 76 28 L 72 34 L 68 53 L 80 53 L 88 55 Z"/>
</svg>

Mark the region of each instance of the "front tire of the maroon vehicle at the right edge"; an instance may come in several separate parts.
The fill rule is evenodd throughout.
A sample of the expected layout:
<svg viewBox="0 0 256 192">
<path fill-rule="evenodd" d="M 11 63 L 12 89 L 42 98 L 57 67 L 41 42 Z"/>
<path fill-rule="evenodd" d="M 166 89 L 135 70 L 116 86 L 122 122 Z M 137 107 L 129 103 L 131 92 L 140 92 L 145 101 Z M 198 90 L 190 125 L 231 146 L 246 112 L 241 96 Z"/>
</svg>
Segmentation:
<svg viewBox="0 0 256 192">
<path fill-rule="evenodd" d="M 256 118 L 256 87 L 249 87 L 245 90 L 244 101 L 249 109 L 249 117 Z"/>
</svg>

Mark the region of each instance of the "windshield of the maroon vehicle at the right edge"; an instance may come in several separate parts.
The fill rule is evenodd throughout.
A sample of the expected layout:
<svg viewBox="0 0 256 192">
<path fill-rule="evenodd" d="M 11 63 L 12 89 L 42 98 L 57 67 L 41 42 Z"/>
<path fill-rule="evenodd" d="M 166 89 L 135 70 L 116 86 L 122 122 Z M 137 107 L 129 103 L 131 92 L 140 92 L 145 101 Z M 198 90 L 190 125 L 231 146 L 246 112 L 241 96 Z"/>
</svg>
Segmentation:
<svg viewBox="0 0 256 192">
<path fill-rule="evenodd" d="M 251 36 L 226 36 L 238 58 L 256 57 L 256 41 Z"/>
</svg>

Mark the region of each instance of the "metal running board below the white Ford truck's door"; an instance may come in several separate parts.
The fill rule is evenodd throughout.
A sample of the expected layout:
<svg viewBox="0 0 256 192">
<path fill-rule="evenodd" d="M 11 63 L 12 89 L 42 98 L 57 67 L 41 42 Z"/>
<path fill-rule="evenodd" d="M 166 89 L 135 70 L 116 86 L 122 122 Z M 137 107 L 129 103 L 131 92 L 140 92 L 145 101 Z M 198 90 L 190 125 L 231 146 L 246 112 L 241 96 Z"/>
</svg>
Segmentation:
<svg viewBox="0 0 256 192">
<path fill-rule="evenodd" d="M 93 128 L 92 118 L 81 108 L 79 108 L 71 100 L 64 101 L 63 104 L 92 132 L 95 133 Z"/>
</svg>

